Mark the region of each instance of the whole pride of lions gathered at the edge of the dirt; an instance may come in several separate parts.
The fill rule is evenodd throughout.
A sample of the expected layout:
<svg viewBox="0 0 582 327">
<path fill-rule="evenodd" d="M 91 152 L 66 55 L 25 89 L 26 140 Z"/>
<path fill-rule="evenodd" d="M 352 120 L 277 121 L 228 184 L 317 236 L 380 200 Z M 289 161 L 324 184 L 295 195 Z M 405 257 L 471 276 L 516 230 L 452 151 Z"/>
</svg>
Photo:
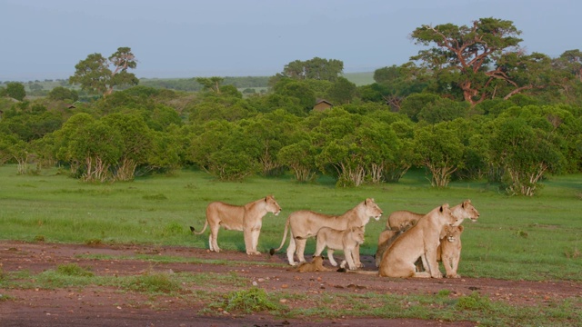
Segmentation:
<svg viewBox="0 0 582 327">
<path fill-rule="evenodd" d="M 272 195 L 242 206 L 214 202 L 206 207 L 203 230 L 196 233 L 194 227 L 190 229 L 193 233 L 201 234 L 210 226 L 208 246 L 210 251 L 215 252 L 220 252 L 216 240 L 221 226 L 226 230 L 242 231 L 246 253 L 260 254 L 256 245 L 263 217 L 266 213 L 278 215 L 280 212 L 281 207 Z M 294 270 L 298 272 L 329 271 L 330 269 L 323 266 L 321 257 L 321 253 L 327 249 L 327 257 L 333 266 L 337 266 L 334 250 L 343 251 L 345 261 L 341 263 L 341 267 L 343 269 L 347 265 L 350 272 L 378 273 L 386 277 L 442 278 L 443 274 L 438 269 L 438 261 L 442 261 L 447 277 L 459 277 L 457 266 L 461 251 L 460 234 L 463 232 L 460 223 L 466 218 L 475 222 L 479 217 L 470 200 L 454 207 L 445 203 L 426 214 L 408 211 L 391 213 L 386 222 L 386 230 L 378 239 L 378 271 L 356 271 L 363 267 L 359 247 L 364 243 L 366 224 L 370 218 L 377 221 L 381 216 L 382 210 L 371 198 L 341 215 L 296 211 L 287 217 L 281 245 L 277 249 L 271 249 L 271 254 L 281 250 L 289 233 L 287 259 L 290 265 L 296 266 Z M 304 252 L 306 240 L 310 237 L 316 237 L 316 253 L 314 260 L 306 263 Z M 299 265 L 295 262 L 295 256 Z"/>
</svg>

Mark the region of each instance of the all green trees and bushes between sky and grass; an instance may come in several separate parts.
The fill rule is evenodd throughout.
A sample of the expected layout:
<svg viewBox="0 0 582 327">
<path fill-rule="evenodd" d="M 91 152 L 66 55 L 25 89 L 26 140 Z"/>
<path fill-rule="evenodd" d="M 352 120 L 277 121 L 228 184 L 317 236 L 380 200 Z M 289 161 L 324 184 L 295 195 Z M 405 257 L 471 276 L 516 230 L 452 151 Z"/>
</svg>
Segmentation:
<svg viewBox="0 0 582 327">
<path fill-rule="evenodd" d="M 291 172 L 337 187 L 397 183 L 421 167 L 437 188 L 487 180 L 531 196 L 547 176 L 582 168 L 582 60 L 526 54 L 520 33 L 495 18 L 423 25 L 411 36 L 426 48 L 377 69 L 376 83 L 356 86 L 341 61 L 316 57 L 286 64 L 260 93 L 224 77 L 193 78 L 196 92 L 136 85 L 130 48 L 89 54 L 45 97 L 6 84 L 0 163 L 98 183 L 194 167 L 223 181 Z M 333 108 L 312 110 L 319 99 Z"/>
</svg>

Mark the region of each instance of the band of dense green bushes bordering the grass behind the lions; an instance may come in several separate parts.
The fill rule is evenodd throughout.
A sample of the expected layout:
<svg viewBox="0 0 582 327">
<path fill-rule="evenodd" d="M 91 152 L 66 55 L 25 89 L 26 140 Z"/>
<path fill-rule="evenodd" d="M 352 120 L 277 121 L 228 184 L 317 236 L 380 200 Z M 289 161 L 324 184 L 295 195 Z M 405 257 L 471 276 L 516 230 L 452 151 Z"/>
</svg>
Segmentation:
<svg viewBox="0 0 582 327">
<path fill-rule="evenodd" d="M 308 101 L 298 97 L 306 84 L 318 84 Z M 336 84 L 284 78 L 272 93 L 249 98 L 232 85 L 198 94 L 140 85 L 76 107 L 48 97 L 10 104 L 0 121 L 0 163 L 18 163 L 18 173 L 57 164 L 87 182 L 191 166 L 221 180 L 326 174 L 338 187 L 396 183 L 418 166 L 435 187 L 487 179 L 527 195 L 547 173 L 582 170 L 580 106 L 519 95 L 450 110 L 461 104 L 412 94 L 401 106 L 415 115 L 357 99 L 311 110 Z"/>
</svg>

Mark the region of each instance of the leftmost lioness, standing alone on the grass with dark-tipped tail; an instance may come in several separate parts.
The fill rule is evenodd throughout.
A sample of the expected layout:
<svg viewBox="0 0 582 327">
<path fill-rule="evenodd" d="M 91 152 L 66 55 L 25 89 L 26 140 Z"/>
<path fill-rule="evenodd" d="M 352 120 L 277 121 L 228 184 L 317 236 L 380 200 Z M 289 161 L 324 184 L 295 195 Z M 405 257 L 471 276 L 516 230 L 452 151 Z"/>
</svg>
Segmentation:
<svg viewBox="0 0 582 327">
<path fill-rule="evenodd" d="M 258 235 L 261 233 L 263 217 L 266 213 L 278 215 L 281 212 L 279 203 L 276 203 L 273 195 L 267 195 L 263 199 L 256 200 L 245 205 L 234 205 L 222 202 L 213 202 L 206 207 L 206 222 L 200 233 L 196 233 L 190 226 L 192 233 L 199 235 L 206 231 L 210 225 L 208 247 L 210 251 L 220 252 L 216 243 L 220 226 L 226 230 L 242 231 L 245 236 L 246 254 L 260 254 L 256 251 Z"/>
</svg>

